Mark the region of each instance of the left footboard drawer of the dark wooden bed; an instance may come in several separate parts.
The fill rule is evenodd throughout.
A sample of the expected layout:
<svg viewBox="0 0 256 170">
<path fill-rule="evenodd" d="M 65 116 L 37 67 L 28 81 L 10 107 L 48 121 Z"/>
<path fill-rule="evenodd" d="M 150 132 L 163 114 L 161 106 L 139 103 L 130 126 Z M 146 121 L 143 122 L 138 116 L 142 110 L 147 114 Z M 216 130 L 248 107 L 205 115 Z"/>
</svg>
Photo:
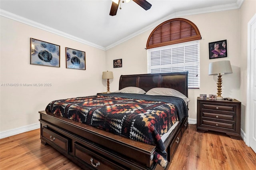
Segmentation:
<svg viewBox="0 0 256 170">
<path fill-rule="evenodd" d="M 58 148 L 68 152 L 70 140 L 65 136 L 43 127 L 42 137 L 47 141 L 48 144 L 54 144 L 55 146 L 58 146 Z"/>
</svg>

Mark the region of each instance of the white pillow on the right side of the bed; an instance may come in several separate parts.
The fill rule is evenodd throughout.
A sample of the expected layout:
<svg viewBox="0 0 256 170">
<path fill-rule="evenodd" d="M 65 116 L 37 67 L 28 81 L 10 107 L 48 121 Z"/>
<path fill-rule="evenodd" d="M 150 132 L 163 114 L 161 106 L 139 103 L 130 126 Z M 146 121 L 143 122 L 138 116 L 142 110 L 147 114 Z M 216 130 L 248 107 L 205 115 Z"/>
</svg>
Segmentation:
<svg viewBox="0 0 256 170">
<path fill-rule="evenodd" d="M 180 98 L 182 98 L 185 101 L 186 104 L 188 103 L 188 101 L 190 101 L 188 99 L 188 97 L 186 97 L 185 95 L 183 95 L 179 91 L 174 90 L 174 89 L 170 89 L 170 88 L 164 88 L 164 87 L 156 87 L 156 88 L 150 89 L 146 93 L 146 95 L 180 97 Z"/>
</svg>

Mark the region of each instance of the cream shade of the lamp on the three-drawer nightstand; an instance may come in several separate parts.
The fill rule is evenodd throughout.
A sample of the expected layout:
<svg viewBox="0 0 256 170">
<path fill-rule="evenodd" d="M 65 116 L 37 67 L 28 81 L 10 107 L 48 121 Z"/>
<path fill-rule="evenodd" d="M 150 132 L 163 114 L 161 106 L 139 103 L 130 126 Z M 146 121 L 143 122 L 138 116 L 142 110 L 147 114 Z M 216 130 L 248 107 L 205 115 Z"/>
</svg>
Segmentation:
<svg viewBox="0 0 256 170">
<path fill-rule="evenodd" d="M 208 75 L 218 75 L 218 74 L 229 74 L 232 73 L 232 68 L 230 61 L 216 61 L 209 63 L 209 73 Z"/>
</svg>

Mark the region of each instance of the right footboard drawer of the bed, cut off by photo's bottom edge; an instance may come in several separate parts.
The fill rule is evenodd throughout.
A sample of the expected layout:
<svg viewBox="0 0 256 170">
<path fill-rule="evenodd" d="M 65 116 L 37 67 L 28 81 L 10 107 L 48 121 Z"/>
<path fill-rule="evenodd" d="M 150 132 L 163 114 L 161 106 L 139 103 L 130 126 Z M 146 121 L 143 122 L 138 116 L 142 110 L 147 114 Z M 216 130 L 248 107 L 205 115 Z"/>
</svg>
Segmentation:
<svg viewBox="0 0 256 170">
<path fill-rule="evenodd" d="M 114 162 L 110 160 L 103 158 L 102 156 L 94 153 L 93 150 L 90 150 L 89 148 L 86 148 L 86 146 L 83 146 L 82 144 L 79 144 L 77 142 L 74 143 L 74 157 L 83 164 L 89 164 L 90 166 L 96 168 L 97 170 L 126 169 L 121 166 L 118 166 L 117 164 L 114 164 Z"/>
</svg>

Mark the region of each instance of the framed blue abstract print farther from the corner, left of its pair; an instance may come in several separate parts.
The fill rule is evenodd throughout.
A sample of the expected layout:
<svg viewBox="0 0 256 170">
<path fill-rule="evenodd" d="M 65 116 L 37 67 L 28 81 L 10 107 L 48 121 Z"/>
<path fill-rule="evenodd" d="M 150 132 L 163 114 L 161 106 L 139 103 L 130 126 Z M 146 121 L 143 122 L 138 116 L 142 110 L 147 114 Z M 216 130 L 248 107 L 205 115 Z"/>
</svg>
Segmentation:
<svg viewBox="0 0 256 170">
<path fill-rule="evenodd" d="M 60 67 L 60 45 L 30 38 L 30 64 Z"/>
</svg>

